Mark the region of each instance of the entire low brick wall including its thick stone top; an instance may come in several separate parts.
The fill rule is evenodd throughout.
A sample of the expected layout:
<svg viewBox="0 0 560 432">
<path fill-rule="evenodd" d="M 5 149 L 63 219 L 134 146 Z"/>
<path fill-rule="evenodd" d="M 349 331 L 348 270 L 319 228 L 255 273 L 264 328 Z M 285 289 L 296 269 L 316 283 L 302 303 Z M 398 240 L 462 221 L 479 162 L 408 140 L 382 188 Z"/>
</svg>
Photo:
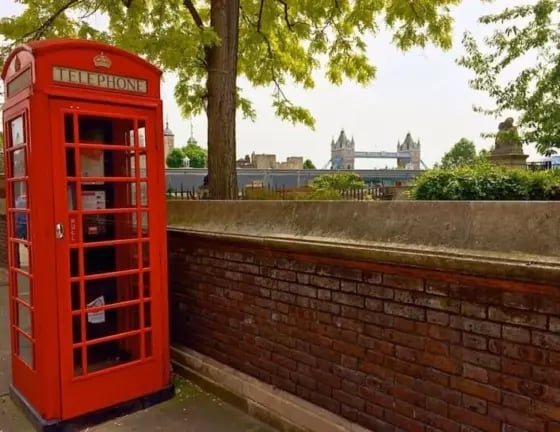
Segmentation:
<svg viewBox="0 0 560 432">
<path fill-rule="evenodd" d="M 375 431 L 560 430 L 554 203 L 169 203 L 172 337 Z"/>
</svg>

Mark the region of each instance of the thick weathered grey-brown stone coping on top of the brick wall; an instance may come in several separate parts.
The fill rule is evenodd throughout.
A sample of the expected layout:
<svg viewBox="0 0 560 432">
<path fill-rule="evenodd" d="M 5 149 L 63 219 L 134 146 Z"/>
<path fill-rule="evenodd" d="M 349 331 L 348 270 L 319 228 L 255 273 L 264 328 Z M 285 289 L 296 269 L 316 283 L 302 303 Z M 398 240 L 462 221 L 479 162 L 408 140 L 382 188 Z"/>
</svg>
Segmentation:
<svg viewBox="0 0 560 432">
<path fill-rule="evenodd" d="M 560 203 L 169 201 L 201 239 L 560 285 Z"/>
</svg>

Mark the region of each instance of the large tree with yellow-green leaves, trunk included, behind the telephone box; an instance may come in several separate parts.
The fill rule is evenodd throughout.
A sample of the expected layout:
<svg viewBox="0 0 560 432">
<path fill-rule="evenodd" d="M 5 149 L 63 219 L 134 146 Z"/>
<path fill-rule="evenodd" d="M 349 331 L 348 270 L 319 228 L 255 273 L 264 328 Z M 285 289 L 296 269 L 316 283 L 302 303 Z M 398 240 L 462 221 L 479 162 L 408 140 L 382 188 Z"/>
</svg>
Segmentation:
<svg viewBox="0 0 560 432">
<path fill-rule="evenodd" d="M 185 116 L 208 116 L 210 195 L 235 199 L 235 111 L 255 118 L 237 76 L 272 88 L 285 120 L 314 127 L 311 113 L 285 92 L 306 89 L 322 69 L 339 85 L 368 84 L 375 67 L 368 34 L 386 27 L 400 49 L 451 46 L 450 7 L 460 0 L 20 0 L 25 11 L 0 20 L 1 54 L 30 39 L 79 37 L 143 55 L 178 76 L 175 97 Z M 108 26 L 88 19 L 97 13 Z M 103 20 L 97 20 L 103 22 Z"/>
</svg>

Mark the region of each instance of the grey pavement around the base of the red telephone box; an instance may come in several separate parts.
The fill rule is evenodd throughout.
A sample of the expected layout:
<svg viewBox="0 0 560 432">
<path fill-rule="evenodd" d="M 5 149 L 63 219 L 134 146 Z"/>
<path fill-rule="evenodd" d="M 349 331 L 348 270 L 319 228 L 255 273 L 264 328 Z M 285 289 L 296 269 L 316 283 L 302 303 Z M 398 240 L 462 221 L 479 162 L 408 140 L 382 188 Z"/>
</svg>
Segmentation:
<svg viewBox="0 0 560 432">
<path fill-rule="evenodd" d="M 0 432 L 33 432 L 21 411 L 4 396 L 8 393 L 10 371 L 8 288 L 0 269 Z M 177 378 L 175 385 L 176 396 L 170 401 L 68 432 L 274 432 L 190 382 Z"/>
</svg>

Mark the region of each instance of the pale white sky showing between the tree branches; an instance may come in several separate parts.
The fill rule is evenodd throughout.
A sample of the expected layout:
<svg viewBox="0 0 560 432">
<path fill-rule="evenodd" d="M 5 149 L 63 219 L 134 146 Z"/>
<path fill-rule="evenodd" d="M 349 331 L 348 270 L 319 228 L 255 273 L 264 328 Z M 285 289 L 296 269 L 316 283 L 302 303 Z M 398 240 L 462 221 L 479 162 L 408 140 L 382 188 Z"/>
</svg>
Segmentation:
<svg viewBox="0 0 560 432">
<path fill-rule="evenodd" d="M 22 10 L 14 0 L 1 0 L 0 16 L 12 16 Z M 526 0 L 464 0 L 453 9 L 455 19 L 453 48 L 449 51 L 429 46 L 403 53 L 391 44 L 390 35 L 381 32 L 369 37 L 368 56 L 377 68 L 376 79 L 367 86 L 346 82 L 331 85 L 320 72 L 316 87 L 303 90 L 284 88 L 295 103 L 311 110 L 316 120 L 315 130 L 292 125 L 275 117 L 271 107 L 272 88 L 251 88 L 240 80 L 245 97 L 254 104 L 256 121 L 239 116 L 237 123 L 237 156 L 275 153 L 277 160 L 288 156 L 311 159 L 318 168 L 330 159 L 330 142 L 341 129 L 354 137 L 360 151 L 394 151 L 397 142 L 408 132 L 422 145 L 422 160 L 432 166 L 462 137 L 474 141 L 478 149 L 492 145 L 480 137 L 481 132 L 497 131 L 502 119 L 473 112 L 473 105 L 488 106 L 491 101 L 469 88 L 470 71 L 456 64 L 464 50 L 461 39 L 465 30 L 482 38 L 488 31 L 478 24 L 478 17 L 505 6 L 526 3 Z M 95 25 L 95 23 L 93 23 Z M 164 116 L 175 134 L 175 146 L 186 145 L 192 130 L 200 145 L 206 147 L 207 122 L 204 115 L 183 118 L 173 89 L 175 76 L 165 74 L 162 82 Z M 538 159 L 532 147 L 525 152 Z M 356 168 L 393 167 L 391 160 L 358 160 Z"/>
</svg>

